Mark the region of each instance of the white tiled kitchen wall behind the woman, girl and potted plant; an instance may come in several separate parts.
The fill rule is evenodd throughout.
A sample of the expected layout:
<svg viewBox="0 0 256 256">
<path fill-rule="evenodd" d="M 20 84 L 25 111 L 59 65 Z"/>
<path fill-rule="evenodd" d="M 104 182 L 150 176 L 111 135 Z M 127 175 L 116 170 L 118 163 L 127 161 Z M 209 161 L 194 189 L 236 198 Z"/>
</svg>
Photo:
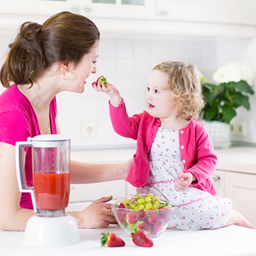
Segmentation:
<svg viewBox="0 0 256 256">
<path fill-rule="evenodd" d="M 14 36 L 15 32 L 0 32 L 1 56 Z M 88 79 L 84 93 L 62 92 L 57 96 L 61 133 L 71 137 L 73 149 L 133 147 L 135 142 L 113 132 L 108 115 L 108 96 L 91 87 L 91 82 L 98 76 L 106 76 L 119 89 L 131 115 L 145 109 L 148 74 L 161 61 L 192 62 L 212 82 L 212 73 L 230 61 L 247 61 L 256 71 L 254 56 L 256 39 L 102 33 L 97 73 Z M 232 137 L 234 141 L 256 143 L 255 96 L 251 97 L 251 107 L 252 111 L 248 113 L 238 110 L 237 118 L 247 122 L 248 131 L 247 137 Z M 83 125 L 95 130 L 93 137 L 82 136 Z"/>
</svg>

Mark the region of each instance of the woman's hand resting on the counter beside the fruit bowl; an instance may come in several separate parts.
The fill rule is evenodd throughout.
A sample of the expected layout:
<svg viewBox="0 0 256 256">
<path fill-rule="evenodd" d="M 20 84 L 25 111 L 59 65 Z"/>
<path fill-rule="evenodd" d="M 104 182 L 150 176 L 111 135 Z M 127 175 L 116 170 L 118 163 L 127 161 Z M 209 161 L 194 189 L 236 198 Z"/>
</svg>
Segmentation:
<svg viewBox="0 0 256 256">
<path fill-rule="evenodd" d="M 93 201 L 89 207 L 86 207 L 82 212 L 72 214 L 78 223 L 79 229 L 100 229 L 107 228 L 109 224 L 116 223 L 111 210 L 111 204 L 107 203 L 112 200 L 113 196 L 102 197 Z"/>
</svg>

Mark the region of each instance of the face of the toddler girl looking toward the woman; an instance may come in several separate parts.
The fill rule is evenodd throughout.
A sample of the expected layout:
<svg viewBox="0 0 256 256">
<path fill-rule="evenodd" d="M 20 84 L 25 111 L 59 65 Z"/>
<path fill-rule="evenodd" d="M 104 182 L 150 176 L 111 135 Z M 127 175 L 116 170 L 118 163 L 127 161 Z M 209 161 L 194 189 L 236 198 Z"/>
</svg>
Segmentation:
<svg viewBox="0 0 256 256">
<path fill-rule="evenodd" d="M 145 102 L 148 113 L 155 118 L 165 119 L 173 114 L 170 90 L 164 90 L 167 86 L 166 73 L 154 70 L 149 74 Z"/>
</svg>

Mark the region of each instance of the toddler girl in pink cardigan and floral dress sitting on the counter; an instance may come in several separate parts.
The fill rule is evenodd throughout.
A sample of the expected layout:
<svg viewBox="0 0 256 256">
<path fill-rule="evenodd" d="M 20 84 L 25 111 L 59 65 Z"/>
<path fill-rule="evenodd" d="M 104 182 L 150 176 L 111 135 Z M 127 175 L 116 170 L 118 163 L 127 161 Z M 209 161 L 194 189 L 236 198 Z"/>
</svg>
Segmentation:
<svg viewBox="0 0 256 256">
<path fill-rule="evenodd" d="M 110 96 L 114 131 L 137 140 L 126 181 L 139 193 L 153 193 L 176 206 L 169 228 L 215 229 L 229 224 L 253 228 L 227 198 L 215 197 L 210 180 L 217 157 L 198 118 L 204 102 L 197 69 L 192 64 L 167 61 L 148 77 L 148 112 L 129 117 L 113 84 L 92 84 Z"/>
</svg>

